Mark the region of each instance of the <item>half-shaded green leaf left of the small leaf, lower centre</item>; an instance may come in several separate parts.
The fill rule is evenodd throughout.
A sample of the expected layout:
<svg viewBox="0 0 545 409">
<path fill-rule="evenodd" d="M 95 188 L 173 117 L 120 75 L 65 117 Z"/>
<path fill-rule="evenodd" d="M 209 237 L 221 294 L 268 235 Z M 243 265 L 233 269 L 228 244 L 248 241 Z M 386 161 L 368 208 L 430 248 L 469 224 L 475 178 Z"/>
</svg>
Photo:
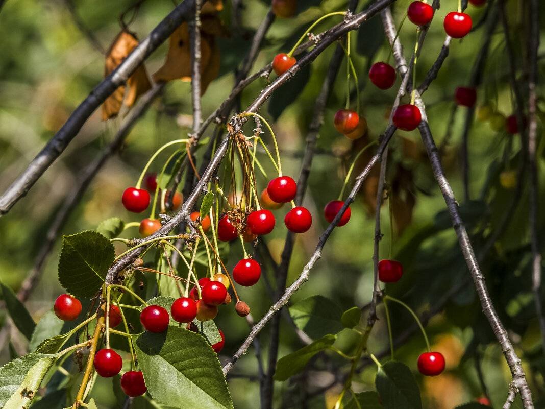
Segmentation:
<svg viewBox="0 0 545 409">
<path fill-rule="evenodd" d="M 344 329 L 340 306 L 323 296 L 311 296 L 290 306 L 289 314 L 297 328 L 312 339 L 337 334 Z"/>
</svg>

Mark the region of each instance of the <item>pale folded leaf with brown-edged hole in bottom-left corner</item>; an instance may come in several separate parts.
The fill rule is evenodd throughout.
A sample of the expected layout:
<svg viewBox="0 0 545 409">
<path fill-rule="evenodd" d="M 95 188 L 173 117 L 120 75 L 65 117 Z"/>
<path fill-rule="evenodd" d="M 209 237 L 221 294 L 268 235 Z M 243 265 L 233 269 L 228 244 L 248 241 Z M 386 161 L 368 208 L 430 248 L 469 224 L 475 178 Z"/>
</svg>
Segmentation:
<svg viewBox="0 0 545 409">
<path fill-rule="evenodd" d="M 0 407 L 25 409 L 38 392 L 41 381 L 56 356 L 33 353 L 0 368 Z"/>
</svg>

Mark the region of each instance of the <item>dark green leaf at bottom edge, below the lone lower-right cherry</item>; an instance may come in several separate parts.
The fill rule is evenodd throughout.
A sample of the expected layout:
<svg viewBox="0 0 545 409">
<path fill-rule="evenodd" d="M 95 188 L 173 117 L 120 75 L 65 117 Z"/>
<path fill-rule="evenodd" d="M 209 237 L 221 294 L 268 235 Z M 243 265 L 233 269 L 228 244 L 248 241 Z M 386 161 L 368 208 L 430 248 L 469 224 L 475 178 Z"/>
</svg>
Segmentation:
<svg viewBox="0 0 545 409">
<path fill-rule="evenodd" d="M 422 409 L 416 380 L 401 362 L 386 362 L 377 372 L 375 386 L 386 409 Z"/>
</svg>

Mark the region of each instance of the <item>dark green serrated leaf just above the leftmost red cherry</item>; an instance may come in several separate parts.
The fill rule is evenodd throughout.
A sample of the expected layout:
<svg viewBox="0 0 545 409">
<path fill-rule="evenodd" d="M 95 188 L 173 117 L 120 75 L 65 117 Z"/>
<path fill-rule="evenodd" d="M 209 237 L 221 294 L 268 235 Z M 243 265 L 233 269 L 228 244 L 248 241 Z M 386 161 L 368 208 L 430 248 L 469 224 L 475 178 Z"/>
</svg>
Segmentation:
<svg viewBox="0 0 545 409">
<path fill-rule="evenodd" d="M 104 284 L 115 257 L 110 240 L 98 232 L 84 231 L 63 236 L 58 267 L 60 285 L 76 297 L 94 296 Z"/>
</svg>

